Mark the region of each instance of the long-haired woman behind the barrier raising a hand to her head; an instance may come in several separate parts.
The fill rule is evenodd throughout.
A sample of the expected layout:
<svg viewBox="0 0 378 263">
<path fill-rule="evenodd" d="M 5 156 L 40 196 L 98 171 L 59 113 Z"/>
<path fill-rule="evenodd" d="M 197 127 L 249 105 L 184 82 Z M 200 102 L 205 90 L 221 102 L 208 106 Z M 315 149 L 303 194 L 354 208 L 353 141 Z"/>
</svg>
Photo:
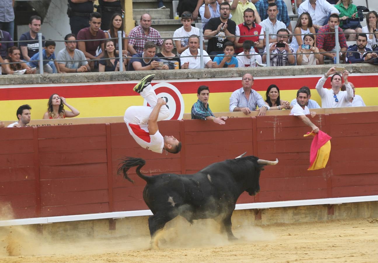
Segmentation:
<svg viewBox="0 0 378 263">
<path fill-rule="evenodd" d="M 67 106 L 71 111 L 65 110 L 64 105 Z M 79 114 L 79 110 L 68 104 L 65 98 L 59 96 L 58 94 L 53 94 L 48 100 L 47 112 L 45 112 L 45 114 L 43 115 L 43 119 L 71 118 L 76 117 Z"/>
</svg>

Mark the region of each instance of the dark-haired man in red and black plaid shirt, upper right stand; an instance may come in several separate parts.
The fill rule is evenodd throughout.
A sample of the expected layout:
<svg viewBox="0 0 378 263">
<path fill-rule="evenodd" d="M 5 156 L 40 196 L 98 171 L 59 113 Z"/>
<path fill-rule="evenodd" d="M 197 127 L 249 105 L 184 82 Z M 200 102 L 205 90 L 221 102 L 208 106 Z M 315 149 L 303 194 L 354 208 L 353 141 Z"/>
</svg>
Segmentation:
<svg viewBox="0 0 378 263">
<path fill-rule="evenodd" d="M 345 61 L 345 51 L 348 49 L 347 41 L 345 39 L 344 32 L 341 28 L 339 28 L 339 43 L 340 43 L 340 53 L 336 54 L 335 50 L 335 26 L 339 25 L 339 15 L 332 14 L 328 20 L 328 24 L 322 26 L 318 33 L 320 35 L 316 35 L 316 46 L 319 48 L 320 52 L 327 52 L 323 53 L 322 55 L 328 57 L 329 59 L 333 60 L 336 56 L 340 56 L 340 59 Z M 322 33 L 330 33 L 333 34 L 322 34 Z"/>
</svg>

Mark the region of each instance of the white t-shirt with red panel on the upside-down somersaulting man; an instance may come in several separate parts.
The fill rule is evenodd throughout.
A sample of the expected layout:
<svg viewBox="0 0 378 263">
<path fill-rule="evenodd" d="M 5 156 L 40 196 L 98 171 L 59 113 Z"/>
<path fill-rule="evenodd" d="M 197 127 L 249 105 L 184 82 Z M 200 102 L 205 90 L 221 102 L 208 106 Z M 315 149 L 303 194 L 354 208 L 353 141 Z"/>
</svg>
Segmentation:
<svg viewBox="0 0 378 263">
<path fill-rule="evenodd" d="M 155 153 L 162 153 L 164 148 L 163 135 L 157 131 L 154 135 L 150 135 L 148 131 L 148 124 L 132 124 L 126 123 L 131 136 L 144 149 L 153 151 Z"/>
</svg>

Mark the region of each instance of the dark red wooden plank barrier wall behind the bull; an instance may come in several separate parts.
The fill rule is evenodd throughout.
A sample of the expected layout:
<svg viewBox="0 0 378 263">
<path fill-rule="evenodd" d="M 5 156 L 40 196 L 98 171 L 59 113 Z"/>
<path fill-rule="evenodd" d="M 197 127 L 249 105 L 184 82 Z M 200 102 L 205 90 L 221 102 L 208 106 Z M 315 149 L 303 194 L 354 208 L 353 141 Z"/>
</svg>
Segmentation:
<svg viewBox="0 0 378 263">
<path fill-rule="evenodd" d="M 317 115 L 313 121 L 330 134 L 326 168 L 307 171 L 310 131 L 293 116 L 231 118 L 225 125 L 202 120 L 159 124 L 163 135 L 183 143 L 179 154 L 141 148 L 124 123 L 0 129 L 0 207 L 11 204 L 13 218 L 147 209 L 145 182 L 116 174 L 124 156 L 146 160 L 142 172 L 195 173 L 245 151 L 279 159 L 260 177 L 256 196 L 238 203 L 378 194 L 378 115 L 375 112 Z"/>
</svg>

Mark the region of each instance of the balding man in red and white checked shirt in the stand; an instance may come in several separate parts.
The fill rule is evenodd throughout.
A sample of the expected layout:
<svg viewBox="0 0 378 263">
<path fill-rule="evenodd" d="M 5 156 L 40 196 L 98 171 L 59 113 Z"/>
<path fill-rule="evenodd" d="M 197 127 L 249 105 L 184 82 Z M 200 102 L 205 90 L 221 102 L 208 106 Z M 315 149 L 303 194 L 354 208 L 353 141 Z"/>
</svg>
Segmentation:
<svg viewBox="0 0 378 263">
<path fill-rule="evenodd" d="M 161 47 L 161 44 L 163 44 L 159 31 L 151 27 L 151 20 L 152 18 L 149 14 L 143 14 L 141 16 L 140 25 L 135 26 L 135 28 L 130 31 L 128 48 L 131 55 L 142 53 L 146 41 L 152 41 L 158 47 Z"/>
</svg>

